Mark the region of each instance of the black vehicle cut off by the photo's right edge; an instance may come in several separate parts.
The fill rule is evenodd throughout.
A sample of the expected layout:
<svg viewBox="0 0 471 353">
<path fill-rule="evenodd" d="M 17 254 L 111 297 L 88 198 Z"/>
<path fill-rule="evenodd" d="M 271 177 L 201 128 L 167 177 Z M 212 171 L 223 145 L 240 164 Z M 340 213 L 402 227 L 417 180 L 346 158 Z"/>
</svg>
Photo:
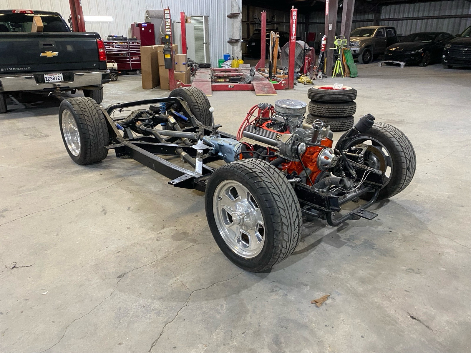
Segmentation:
<svg viewBox="0 0 471 353">
<path fill-rule="evenodd" d="M 445 45 L 443 67 L 471 66 L 471 26 Z"/>
</svg>

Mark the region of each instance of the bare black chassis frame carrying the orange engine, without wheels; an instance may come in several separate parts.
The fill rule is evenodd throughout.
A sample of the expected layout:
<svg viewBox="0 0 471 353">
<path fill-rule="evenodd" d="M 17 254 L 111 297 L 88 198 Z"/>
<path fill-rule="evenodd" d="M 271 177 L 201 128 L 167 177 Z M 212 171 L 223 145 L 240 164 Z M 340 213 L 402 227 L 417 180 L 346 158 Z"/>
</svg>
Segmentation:
<svg viewBox="0 0 471 353">
<path fill-rule="evenodd" d="M 108 126 L 108 133 L 110 140 L 114 144 L 106 146 L 108 150 L 115 150 L 117 158 L 131 158 L 138 161 L 144 166 L 153 169 L 159 174 L 168 177 L 171 179 L 169 181 L 170 185 L 185 188 L 185 189 L 195 189 L 201 192 L 204 192 L 206 189 L 207 180 L 210 178 L 212 172 L 215 168 L 208 166 L 206 163 L 221 160 L 222 158 L 219 155 L 205 155 L 202 159 L 203 162 L 203 173 L 197 173 L 196 171 L 189 170 L 187 168 L 180 167 L 177 164 L 174 164 L 168 160 L 165 160 L 159 156 L 171 156 L 171 157 L 180 157 L 180 154 L 176 151 L 177 148 L 183 149 L 189 156 L 196 158 L 197 150 L 192 146 L 182 146 L 179 144 L 172 144 L 172 140 L 178 140 L 178 136 L 171 138 L 169 143 L 156 143 L 154 136 L 134 136 L 130 128 L 123 128 L 124 136 L 118 132 L 115 122 L 111 118 L 112 112 L 115 110 L 122 110 L 124 108 L 129 108 L 132 106 L 144 105 L 144 104 L 157 104 L 157 103 L 166 103 L 179 104 L 179 108 L 185 113 L 188 119 L 191 121 L 191 127 L 183 128 L 182 134 L 180 136 L 184 137 L 187 134 L 188 137 L 194 136 L 195 133 L 203 134 L 204 136 L 210 135 L 212 132 L 218 130 L 220 125 L 213 126 L 204 126 L 198 120 L 195 119 L 195 116 L 190 111 L 190 108 L 185 100 L 180 97 L 162 97 L 162 98 L 152 98 L 144 99 L 139 101 L 127 102 L 112 104 L 104 109 L 106 115 L 106 123 Z M 162 118 L 162 122 L 167 122 L 166 119 Z M 227 138 L 234 138 L 236 136 L 219 131 L 219 135 Z M 363 217 L 366 219 L 373 219 L 377 216 L 376 213 L 367 211 L 366 208 L 370 207 L 376 201 L 379 191 L 381 190 L 382 182 L 382 173 L 380 171 L 367 168 L 365 166 L 355 164 L 354 169 L 359 176 L 363 176 L 366 172 L 369 172 L 365 178 L 365 184 L 368 187 L 361 189 L 360 191 L 351 193 L 349 195 L 338 197 L 332 196 L 328 193 L 313 190 L 307 185 L 302 183 L 293 183 L 294 191 L 300 201 L 301 206 L 309 206 L 308 208 L 301 208 L 301 212 L 306 216 L 312 218 L 319 218 L 325 216 L 325 219 L 329 225 L 337 226 L 346 220 Z M 348 214 L 333 218 L 332 212 L 339 212 L 340 206 L 356 199 L 364 193 L 374 192 L 374 196 L 367 203 L 350 211 Z M 357 217 L 355 217 L 357 216 Z"/>
</svg>

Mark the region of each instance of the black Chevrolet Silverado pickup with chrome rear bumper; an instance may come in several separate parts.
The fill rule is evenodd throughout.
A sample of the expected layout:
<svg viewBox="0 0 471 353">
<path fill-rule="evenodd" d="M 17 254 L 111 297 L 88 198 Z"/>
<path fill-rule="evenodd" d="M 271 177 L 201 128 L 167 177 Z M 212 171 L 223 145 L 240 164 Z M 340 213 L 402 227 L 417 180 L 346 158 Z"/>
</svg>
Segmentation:
<svg viewBox="0 0 471 353">
<path fill-rule="evenodd" d="M 40 16 L 42 32 L 31 32 Z M 14 92 L 60 93 L 83 90 L 97 103 L 110 81 L 98 33 L 71 32 L 57 12 L 0 10 L 0 113 Z"/>
</svg>

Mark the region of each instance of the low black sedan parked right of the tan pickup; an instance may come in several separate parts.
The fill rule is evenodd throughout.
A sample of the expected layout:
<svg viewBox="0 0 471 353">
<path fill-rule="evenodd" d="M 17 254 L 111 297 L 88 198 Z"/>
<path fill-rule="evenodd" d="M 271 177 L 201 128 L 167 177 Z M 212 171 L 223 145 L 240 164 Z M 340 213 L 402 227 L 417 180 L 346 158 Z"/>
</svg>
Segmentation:
<svg viewBox="0 0 471 353">
<path fill-rule="evenodd" d="M 439 62 L 443 48 L 453 34 L 445 32 L 412 33 L 386 48 L 384 60 L 427 66 Z"/>
</svg>

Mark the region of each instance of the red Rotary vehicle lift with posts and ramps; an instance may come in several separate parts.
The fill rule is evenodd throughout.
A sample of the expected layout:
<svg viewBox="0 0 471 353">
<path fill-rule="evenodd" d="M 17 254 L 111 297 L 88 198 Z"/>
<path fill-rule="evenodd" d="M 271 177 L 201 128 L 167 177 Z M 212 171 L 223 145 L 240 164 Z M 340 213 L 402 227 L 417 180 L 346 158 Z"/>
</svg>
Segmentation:
<svg viewBox="0 0 471 353">
<path fill-rule="evenodd" d="M 176 87 L 197 87 L 200 88 L 206 96 L 212 96 L 212 91 L 255 91 L 257 96 L 276 95 L 276 90 L 294 88 L 294 47 L 296 43 L 296 23 L 298 10 L 291 9 L 291 26 L 290 26 L 290 60 L 288 66 L 288 78 L 273 83 L 266 77 L 257 72 L 257 69 L 265 67 L 265 42 L 260 40 L 260 60 L 255 66 L 255 72 L 251 72 L 253 68 L 211 68 L 199 69 L 191 85 L 185 85 L 180 81 L 175 81 Z M 185 31 L 185 13 L 180 12 L 182 47 L 186 51 L 186 31 Z M 267 13 L 261 13 L 261 38 L 267 36 Z M 185 54 L 185 53 L 183 53 Z M 169 72 L 170 73 L 170 72 Z M 172 70 L 173 73 L 173 70 Z M 252 80 L 248 83 L 230 82 L 230 78 L 252 76 Z M 170 77 L 170 74 L 169 74 Z M 170 80 L 172 77 L 170 77 Z M 222 82 L 221 82 L 222 81 Z M 229 82 L 227 82 L 229 81 Z M 170 87 L 172 82 L 170 82 Z M 172 88 L 171 88 L 172 89 Z"/>
</svg>

